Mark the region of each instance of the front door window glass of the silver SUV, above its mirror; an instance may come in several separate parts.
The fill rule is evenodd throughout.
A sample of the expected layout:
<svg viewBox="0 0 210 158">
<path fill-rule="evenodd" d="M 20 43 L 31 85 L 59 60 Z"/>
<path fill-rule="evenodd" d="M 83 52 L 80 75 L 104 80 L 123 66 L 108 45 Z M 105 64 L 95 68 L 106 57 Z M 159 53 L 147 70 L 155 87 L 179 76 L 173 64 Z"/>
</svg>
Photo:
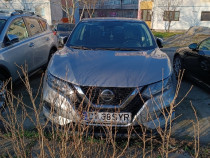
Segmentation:
<svg viewBox="0 0 210 158">
<path fill-rule="evenodd" d="M 9 34 L 18 36 L 20 41 L 28 37 L 28 32 L 22 18 L 12 22 L 7 31 L 7 35 Z"/>
</svg>

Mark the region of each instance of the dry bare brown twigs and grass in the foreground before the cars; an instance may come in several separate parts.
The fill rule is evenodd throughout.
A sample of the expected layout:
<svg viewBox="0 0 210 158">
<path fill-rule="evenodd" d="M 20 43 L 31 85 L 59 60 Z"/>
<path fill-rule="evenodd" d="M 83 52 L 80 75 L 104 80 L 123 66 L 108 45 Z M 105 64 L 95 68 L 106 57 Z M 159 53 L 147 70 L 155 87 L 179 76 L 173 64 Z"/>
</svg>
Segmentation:
<svg viewBox="0 0 210 158">
<path fill-rule="evenodd" d="M 102 128 L 103 136 L 96 137 L 91 126 L 84 125 L 82 120 L 76 123 L 58 126 L 54 122 L 48 126 L 49 120 L 45 124 L 41 123 L 40 115 L 43 108 L 43 102 L 37 104 L 37 98 L 42 91 L 42 83 L 38 88 L 38 92 L 34 94 L 30 87 L 28 75 L 25 69 L 21 68 L 24 77 L 21 78 L 27 89 L 30 98 L 30 105 L 26 105 L 23 101 L 24 96 L 15 96 L 12 90 L 7 90 L 7 100 L 5 109 L 6 114 L 0 116 L 0 120 L 5 126 L 5 132 L 0 134 L 2 140 L 11 143 L 12 150 L 5 148 L 1 157 L 169 157 L 169 154 L 177 151 L 178 147 L 173 144 L 171 138 L 172 123 L 174 121 L 172 113 L 180 104 L 175 99 L 178 95 L 181 79 L 180 75 L 174 100 L 171 102 L 170 108 L 164 109 L 164 100 L 160 97 L 159 107 L 162 115 L 166 120 L 165 127 L 156 127 L 157 135 L 149 131 L 139 123 L 141 133 L 137 132 L 134 127 L 127 129 L 127 136 L 117 137 L 118 129 L 113 126 L 105 126 Z M 40 80 L 42 81 L 42 79 Z M 190 90 L 189 90 L 190 91 Z M 139 93 L 139 97 L 141 94 Z M 153 97 L 153 96 L 151 96 Z M 55 96 L 56 98 L 56 96 Z M 52 107 L 53 102 L 52 101 Z M 157 106 L 160 104 L 157 103 Z M 17 111 L 21 109 L 21 116 Z M 28 109 L 34 111 L 34 115 L 29 114 Z M 86 110 L 88 110 L 87 107 Z M 51 109 L 54 112 L 54 108 Z M 84 110 L 83 108 L 81 110 Z M 195 112 L 197 122 L 193 122 L 195 130 L 194 138 L 194 156 L 199 156 L 199 123 Z M 149 109 L 148 109 L 149 111 Z M 157 119 L 158 116 L 156 115 Z M 147 119 L 151 119 L 150 113 Z M 33 131 L 26 131 L 24 123 L 29 119 L 34 125 Z M 113 122 L 114 125 L 114 122 Z M 132 134 L 135 134 L 133 137 Z"/>
</svg>

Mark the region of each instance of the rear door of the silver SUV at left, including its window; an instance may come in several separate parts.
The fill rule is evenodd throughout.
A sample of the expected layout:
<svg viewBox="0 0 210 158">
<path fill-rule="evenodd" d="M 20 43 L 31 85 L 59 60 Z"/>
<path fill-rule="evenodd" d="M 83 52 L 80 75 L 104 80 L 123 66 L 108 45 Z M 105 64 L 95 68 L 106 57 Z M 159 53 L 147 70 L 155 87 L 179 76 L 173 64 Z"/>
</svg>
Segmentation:
<svg viewBox="0 0 210 158">
<path fill-rule="evenodd" d="M 26 17 L 24 19 L 33 39 L 33 53 L 31 62 L 34 70 L 47 62 L 49 55 L 49 47 L 47 46 L 47 43 L 50 39 L 45 35 L 45 31 L 41 27 L 41 24 L 37 18 Z"/>
</svg>

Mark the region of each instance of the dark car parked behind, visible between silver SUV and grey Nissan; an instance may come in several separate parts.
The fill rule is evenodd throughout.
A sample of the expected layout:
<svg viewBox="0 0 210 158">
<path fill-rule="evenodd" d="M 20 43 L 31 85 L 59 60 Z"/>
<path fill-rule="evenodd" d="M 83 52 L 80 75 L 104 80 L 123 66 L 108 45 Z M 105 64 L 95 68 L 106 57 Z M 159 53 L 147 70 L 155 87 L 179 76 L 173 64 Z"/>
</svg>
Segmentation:
<svg viewBox="0 0 210 158">
<path fill-rule="evenodd" d="M 54 33 L 58 37 L 58 43 L 60 47 L 64 45 L 63 43 L 64 38 L 69 37 L 74 27 L 75 24 L 69 24 L 69 23 L 59 23 L 55 26 Z"/>
</svg>

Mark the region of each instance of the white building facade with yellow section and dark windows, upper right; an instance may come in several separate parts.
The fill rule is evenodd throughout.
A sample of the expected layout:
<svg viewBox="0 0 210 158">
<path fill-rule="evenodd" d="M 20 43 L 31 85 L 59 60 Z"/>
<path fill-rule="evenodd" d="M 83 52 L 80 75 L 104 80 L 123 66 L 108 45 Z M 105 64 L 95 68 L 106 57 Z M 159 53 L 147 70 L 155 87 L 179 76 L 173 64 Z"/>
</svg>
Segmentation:
<svg viewBox="0 0 210 158">
<path fill-rule="evenodd" d="M 154 30 L 187 30 L 210 26 L 210 0 L 140 0 L 138 18 Z M 176 2 L 176 3 L 175 3 Z"/>
</svg>

